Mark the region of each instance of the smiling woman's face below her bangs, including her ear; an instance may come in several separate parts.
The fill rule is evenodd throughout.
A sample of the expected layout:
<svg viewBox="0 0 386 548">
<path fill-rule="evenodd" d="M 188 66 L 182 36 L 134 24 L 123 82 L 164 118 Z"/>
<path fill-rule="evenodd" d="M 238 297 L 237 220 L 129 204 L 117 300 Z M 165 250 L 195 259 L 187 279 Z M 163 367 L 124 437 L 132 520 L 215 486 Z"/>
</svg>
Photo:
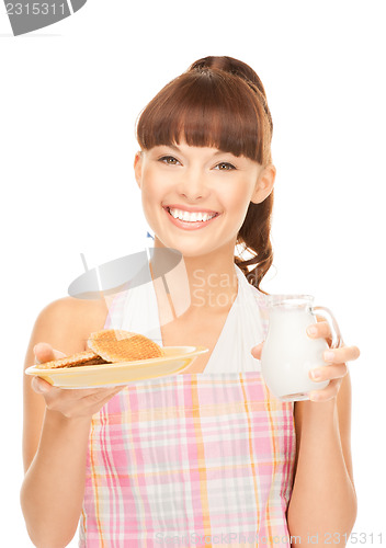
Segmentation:
<svg viewBox="0 0 386 548">
<path fill-rule="evenodd" d="M 184 256 L 220 249 L 232 256 L 250 202 L 265 199 L 275 176 L 273 165 L 185 142 L 138 152 L 134 167 L 156 244 Z"/>
</svg>

